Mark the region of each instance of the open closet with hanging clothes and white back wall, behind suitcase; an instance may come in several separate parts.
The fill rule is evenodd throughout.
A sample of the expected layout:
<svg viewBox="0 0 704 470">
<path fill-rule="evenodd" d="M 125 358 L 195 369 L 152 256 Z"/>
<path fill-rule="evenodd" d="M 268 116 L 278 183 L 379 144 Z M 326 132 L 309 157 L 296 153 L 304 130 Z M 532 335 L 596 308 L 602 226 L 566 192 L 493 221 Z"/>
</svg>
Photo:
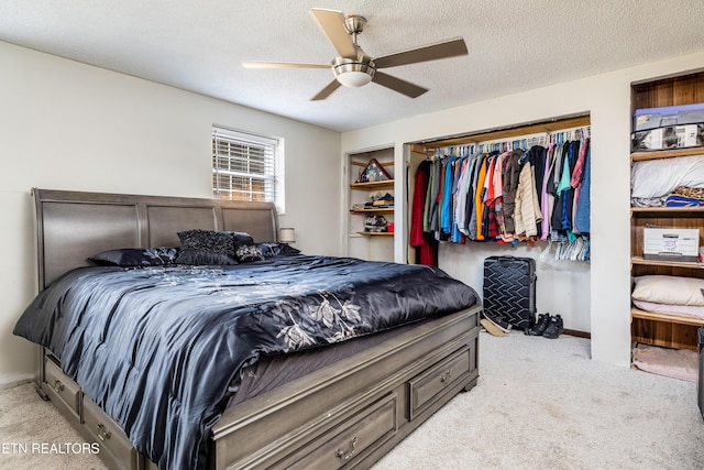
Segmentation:
<svg viewBox="0 0 704 470">
<path fill-rule="evenodd" d="M 408 151 L 408 262 L 481 291 L 488 256 L 534 259 L 536 314 L 560 314 L 565 334 L 591 337 L 590 114 L 417 141 Z"/>
</svg>

